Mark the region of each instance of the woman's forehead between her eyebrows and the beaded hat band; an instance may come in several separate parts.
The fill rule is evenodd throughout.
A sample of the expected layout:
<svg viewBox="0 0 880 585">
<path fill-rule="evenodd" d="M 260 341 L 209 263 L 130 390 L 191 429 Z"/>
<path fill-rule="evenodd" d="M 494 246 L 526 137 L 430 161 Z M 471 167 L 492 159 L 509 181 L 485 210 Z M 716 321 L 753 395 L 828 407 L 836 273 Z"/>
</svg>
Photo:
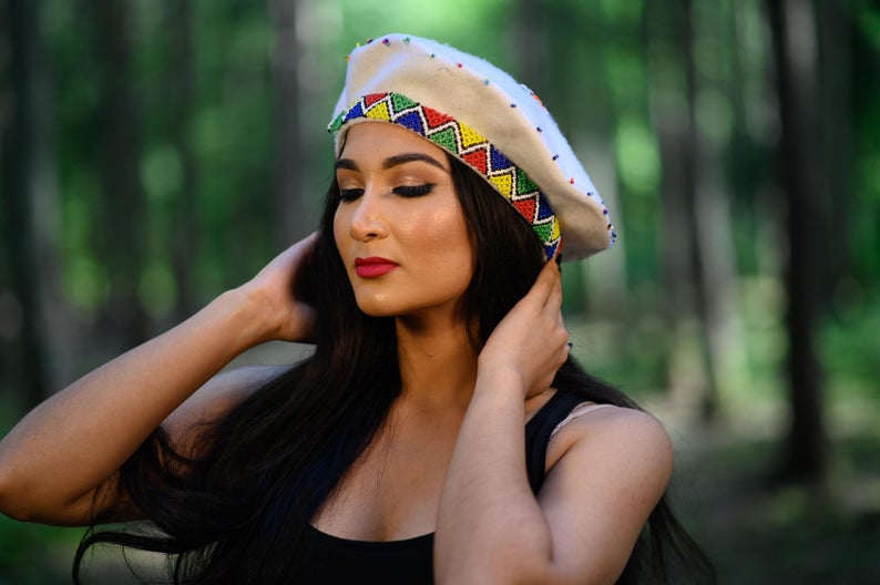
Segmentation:
<svg viewBox="0 0 880 585">
<path fill-rule="evenodd" d="M 387 122 L 361 122 L 349 127 L 339 158 L 387 158 L 401 153 L 427 154 L 449 167 L 443 148 L 411 130 Z"/>
</svg>

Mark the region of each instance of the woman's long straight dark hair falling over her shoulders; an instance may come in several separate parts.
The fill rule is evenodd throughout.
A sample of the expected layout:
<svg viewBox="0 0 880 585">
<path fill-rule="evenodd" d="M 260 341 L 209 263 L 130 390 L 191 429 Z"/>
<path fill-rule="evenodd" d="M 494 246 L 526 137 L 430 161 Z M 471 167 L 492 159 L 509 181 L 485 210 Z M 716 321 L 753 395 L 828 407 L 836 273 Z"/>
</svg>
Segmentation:
<svg viewBox="0 0 880 585">
<path fill-rule="evenodd" d="M 475 250 L 463 306 L 465 318 L 478 324 L 471 342 L 479 349 L 533 284 L 544 263 L 543 248 L 483 178 L 449 158 Z M 358 309 L 336 249 L 338 202 L 334 182 L 313 279 L 297 290 L 317 309 L 314 355 L 209 423 L 204 449 L 194 459 L 175 452 L 164 431 L 156 430 L 121 468 L 117 482 L 150 522 L 123 531 L 92 526 L 76 551 L 75 584 L 81 583 L 84 553 L 100 543 L 168 554 L 175 584 L 288 583 L 297 574 L 308 554 L 308 523 L 370 443 L 401 389 L 393 319 Z M 560 369 L 554 386 L 585 400 L 636 408 L 573 359 Z M 709 567 L 665 497 L 648 526 L 622 582 L 666 582 L 671 552 Z"/>
</svg>

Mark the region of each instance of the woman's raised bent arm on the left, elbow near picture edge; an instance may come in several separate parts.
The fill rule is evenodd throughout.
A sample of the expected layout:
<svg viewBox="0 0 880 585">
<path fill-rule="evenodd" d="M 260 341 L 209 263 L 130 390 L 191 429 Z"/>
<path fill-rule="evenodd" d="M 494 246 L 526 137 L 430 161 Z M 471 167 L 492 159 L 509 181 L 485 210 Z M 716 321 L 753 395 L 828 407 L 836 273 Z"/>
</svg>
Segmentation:
<svg viewBox="0 0 880 585">
<path fill-rule="evenodd" d="M 84 376 L 22 419 L 0 442 L 0 512 L 49 524 L 89 523 L 95 491 L 112 488 L 120 466 L 163 421 L 171 423 L 172 442 L 178 441 L 188 421 L 255 386 L 265 372 L 207 382 L 258 343 L 308 338 L 314 312 L 294 298 L 293 285 L 315 239 L 291 246 L 246 285 Z"/>
</svg>

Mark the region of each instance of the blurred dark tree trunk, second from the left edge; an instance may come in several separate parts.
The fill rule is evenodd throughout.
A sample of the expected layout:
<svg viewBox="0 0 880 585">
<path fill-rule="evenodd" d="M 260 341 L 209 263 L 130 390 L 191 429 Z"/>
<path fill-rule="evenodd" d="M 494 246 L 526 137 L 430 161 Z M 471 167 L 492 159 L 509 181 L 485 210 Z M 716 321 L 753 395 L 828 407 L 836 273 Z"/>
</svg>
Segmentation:
<svg viewBox="0 0 880 585">
<path fill-rule="evenodd" d="M 132 90 L 130 2 L 89 0 L 100 68 L 96 131 L 101 144 L 100 233 L 96 255 L 110 273 L 110 299 L 100 327 L 126 346 L 147 337 L 137 295 L 144 268 L 146 202 L 140 175 L 140 104 Z"/>
</svg>

